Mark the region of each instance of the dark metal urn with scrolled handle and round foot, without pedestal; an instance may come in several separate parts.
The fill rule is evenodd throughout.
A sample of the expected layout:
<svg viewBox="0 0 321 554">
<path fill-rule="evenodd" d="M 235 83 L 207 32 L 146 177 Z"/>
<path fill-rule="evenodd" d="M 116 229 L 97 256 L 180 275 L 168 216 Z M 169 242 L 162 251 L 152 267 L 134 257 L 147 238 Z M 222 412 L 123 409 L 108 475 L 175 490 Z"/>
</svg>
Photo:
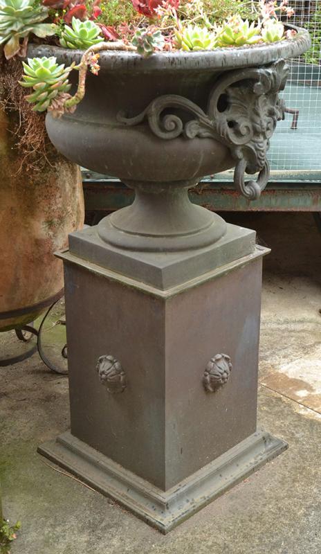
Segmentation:
<svg viewBox="0 0 321 554">
<path fill-rule="evenodd" d="M 103 51 L 73 114 L 46 118 L 49 138 L 68 159 L 116 176 L 136 190 L 132 206 L 104 218 L 100 238 L 120 249 L 208 247 L 226 233 L 221 217 L 194 206 L 187 189 L 235 167 L 235 186 L 257 199 L 268 181 L 270 137 L 284 116 L 278 93 L 286 58 L 309 48 L 309 33 L 273 44 L 214 51 Z M 29 55 L 79 62 L 81 51 L 30 46 Z M 77 72 L 73 72 L 74 86 Z M 258 172 L 257 179 L 244 179 Z"/>
</svg>

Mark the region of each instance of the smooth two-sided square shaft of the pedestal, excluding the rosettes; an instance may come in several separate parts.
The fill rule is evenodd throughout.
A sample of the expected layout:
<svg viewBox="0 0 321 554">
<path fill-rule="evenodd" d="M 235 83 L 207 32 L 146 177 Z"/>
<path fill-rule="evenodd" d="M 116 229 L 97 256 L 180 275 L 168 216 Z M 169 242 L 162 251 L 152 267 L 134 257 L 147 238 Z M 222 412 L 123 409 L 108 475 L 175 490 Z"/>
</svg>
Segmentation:
<svg viewBox="0 0 321 554">
<path fill-rule="evenodd" d="M 263 249 L 167 292 L 64 255 L 71 433 L 168 490 L 256 430 Z M 205 390 L 208 363 L 230 358 Z M 98 359 L 118 360 L 109 392 Z"/>
</svg>

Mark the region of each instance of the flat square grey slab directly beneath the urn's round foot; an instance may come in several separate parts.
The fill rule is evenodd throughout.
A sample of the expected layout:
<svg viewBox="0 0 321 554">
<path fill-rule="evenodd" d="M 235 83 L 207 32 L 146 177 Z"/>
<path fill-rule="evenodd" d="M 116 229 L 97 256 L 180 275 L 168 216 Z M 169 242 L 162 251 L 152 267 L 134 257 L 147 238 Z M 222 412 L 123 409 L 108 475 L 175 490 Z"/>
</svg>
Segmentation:
<svg viewBox="0 0 321 554">
<path fill-rule="evenodd" d="M 98 226 L 69 235 L 71 255 L 160 290 L 198 278 L 254 250 L 255 231 L 232 224 L 227 224 L 226 234 L 210 247 L 179 252 L 119 249 L 100 238 Z"/>
</svg>

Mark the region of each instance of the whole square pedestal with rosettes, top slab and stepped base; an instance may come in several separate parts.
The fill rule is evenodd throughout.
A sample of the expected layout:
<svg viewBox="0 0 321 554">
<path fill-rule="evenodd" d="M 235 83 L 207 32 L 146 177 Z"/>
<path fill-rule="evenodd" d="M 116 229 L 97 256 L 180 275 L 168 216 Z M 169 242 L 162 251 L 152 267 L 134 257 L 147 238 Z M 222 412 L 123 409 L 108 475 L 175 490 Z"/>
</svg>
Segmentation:
<svg viewBox="0 0 321 554">
<path fill-rule="evenodd" d="M 39 452 L 166 533 L 285 447 L 257 433 L 268 249 L 231 225 L 201 252 L 121 252 L 95 228 L 70 248 L 71 434 Z"/>
</svg>

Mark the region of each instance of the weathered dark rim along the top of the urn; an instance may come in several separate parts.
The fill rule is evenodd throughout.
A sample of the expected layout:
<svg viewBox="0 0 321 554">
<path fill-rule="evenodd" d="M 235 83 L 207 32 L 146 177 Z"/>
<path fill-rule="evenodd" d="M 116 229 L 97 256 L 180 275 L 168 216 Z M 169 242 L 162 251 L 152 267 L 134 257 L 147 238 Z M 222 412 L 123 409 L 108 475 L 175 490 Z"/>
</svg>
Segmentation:
<svg viewBox="0 0 321 554">
<path fill-rule="evenodd" d="M 307 30 L 294 25 L 286 28 L 297 30 L 293 39 L 285 39 L 272 44 L 255 44 L 235 48 L 216 48 L 213 51 L 161 52 L 144 58 L 135 52 L 103 51 L 100 53 L 100 66 L 110 71 L 213 71 L 215 69 L 237 69 L 246 66 L 261 66 L 280 58 L 297 57 L 311 46 Z M 30 44 L 28 57 L 55 56 L 59 62 L 71 64 L 79 62 L 81 50 L 70 50 L 60 46 Z"/>
</svg>

